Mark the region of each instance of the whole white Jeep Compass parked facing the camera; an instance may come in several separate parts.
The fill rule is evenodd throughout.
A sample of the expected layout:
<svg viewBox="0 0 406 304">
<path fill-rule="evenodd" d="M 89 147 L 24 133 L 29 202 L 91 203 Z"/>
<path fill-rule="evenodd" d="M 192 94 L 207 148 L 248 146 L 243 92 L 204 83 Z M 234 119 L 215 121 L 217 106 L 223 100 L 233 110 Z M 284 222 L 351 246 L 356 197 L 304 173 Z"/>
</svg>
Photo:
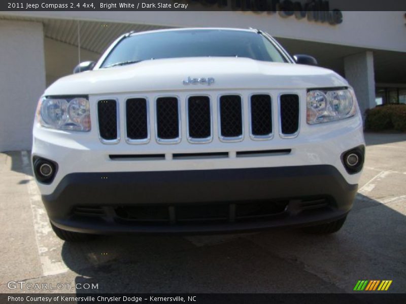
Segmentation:
<svg viewBox="0 0 406 304">
<path fill-rule="evenodd" d="M 338 231 L 362 119 L 314 62 L 254 29 L 122 35 L 40 99 L 32 164 L 55 233 Z"/>
</svg>

